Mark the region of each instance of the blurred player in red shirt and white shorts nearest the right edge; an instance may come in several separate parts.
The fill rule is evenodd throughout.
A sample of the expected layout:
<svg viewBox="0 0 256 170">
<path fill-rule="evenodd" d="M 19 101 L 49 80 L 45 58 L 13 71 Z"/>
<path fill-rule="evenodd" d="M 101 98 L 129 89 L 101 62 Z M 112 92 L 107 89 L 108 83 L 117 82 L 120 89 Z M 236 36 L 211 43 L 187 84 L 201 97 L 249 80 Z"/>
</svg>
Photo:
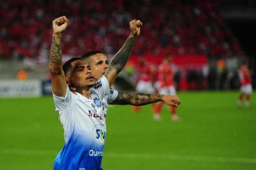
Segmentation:
<svg viewBox="0 0 256 170">
<path fill-rule="evenodd" d="M 239 78 L 241 88 L 237 105 L 239 108 L 242 106 L 243 96 L 245 96 L 245 107 L 248 108 L 250 106 L 250 98 L 252 94 L 252 79 L 248 69 L 248 60 L 243 61 L 239 71 Z"/>
</svg>

